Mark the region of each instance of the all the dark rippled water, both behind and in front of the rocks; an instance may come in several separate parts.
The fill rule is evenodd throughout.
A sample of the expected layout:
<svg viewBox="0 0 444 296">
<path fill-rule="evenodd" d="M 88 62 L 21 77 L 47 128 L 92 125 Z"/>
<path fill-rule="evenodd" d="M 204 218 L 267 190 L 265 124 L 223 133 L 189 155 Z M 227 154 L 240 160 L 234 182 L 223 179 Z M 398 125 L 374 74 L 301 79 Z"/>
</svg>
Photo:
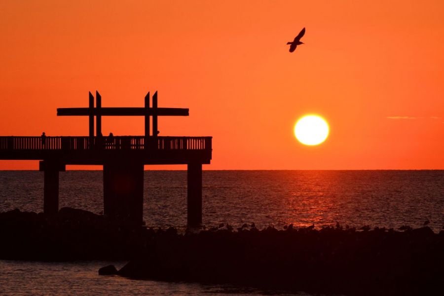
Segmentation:
<svg viewBox="0 0 444 296">
<path fill-rule="evenodd" d="M 60 173 L 59 206 L 103 213 L 103 172 Z M 203 171 L 205 227 L 255 223 L 259 229 L 314 224 L 444 227 L 444 170 Z M 0 211 L 43 210 L 43 173 L 0 171 Z M 145 171 L 147 227 L 186 228 L 186 171 Z M 99 276 L 108 264 L 0 260 L 1 295 L 287 295 L 228 285 L 136 281 Z M 312 296 L 304 292 L 298 296 Z"/>
</svg>

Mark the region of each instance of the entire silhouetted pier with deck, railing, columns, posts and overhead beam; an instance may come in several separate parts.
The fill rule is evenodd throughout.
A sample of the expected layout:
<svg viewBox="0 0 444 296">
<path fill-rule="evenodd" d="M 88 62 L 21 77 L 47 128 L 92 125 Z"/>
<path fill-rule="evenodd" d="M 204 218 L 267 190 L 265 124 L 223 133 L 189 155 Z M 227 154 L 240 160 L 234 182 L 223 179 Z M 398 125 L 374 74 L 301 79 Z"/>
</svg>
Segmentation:
<svg viewBox="0 0 444 296">
<path fill-rule="evenodd" d="M 89 136 L 0 137 L 0 159 L 41 160 L 44 172 L 43 212 L 59 209 L 59 172 L 67 164 L 103 165 L 104 215 L 143 221 L 144 165 L 187 165 L 187 223 L 202 223 L 202 164 L 211 161 L 212 137 L 159 137 L 158 116 L 188 116 L 188 109 L 158 108 L 157 92 L 144 108 L 102 108 L 102 98 L 89 93 L 88 108 L 59 108 L 58 116 L 88 116 Z M 144 136 L 102 136 L 102 116 L 145 116 Z M 150 116 L 152 133 L 150 134 Z M 94 135 L 94 117 L 96 134 Z"/>
</svg>

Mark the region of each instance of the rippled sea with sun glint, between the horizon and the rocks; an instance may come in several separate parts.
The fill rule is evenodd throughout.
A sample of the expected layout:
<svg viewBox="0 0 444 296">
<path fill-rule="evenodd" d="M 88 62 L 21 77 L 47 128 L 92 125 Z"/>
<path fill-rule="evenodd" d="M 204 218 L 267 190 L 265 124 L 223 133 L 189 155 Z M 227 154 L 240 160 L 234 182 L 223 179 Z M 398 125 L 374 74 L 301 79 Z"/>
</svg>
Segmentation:
<svg viewBox="0 0 444 296">
<path fill-rule="evenodd" d="M 60 207 L 103 211 L 102 171 L 60 173 Z M 145 171 L 147 226 L 186 227 L 186 171 Z M 203 223 L 315 224 L 439 232 L 444 171 L 203 171 Z M 43 173 L 0 171 L 0 211 L 41 212 Z"/>
</svg>

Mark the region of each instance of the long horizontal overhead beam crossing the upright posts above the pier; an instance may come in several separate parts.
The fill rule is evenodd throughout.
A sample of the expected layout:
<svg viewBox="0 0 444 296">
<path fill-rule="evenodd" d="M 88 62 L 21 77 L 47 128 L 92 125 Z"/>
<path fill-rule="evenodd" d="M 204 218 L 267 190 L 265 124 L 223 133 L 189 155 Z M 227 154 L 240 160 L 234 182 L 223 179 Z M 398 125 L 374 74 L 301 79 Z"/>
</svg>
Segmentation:
<svg viewBox="0 0 444 296">
<path fill-rule="evenodd" d="M 154 97 L 153 97 L 154 98 Z M 94 98 L 93 98 L 94 99 Z M 94 101 L 93 101 L 94 102 Z M 101 108 L 57 108 L 57 116 L 152 116 L 153 108 L 108 107 Z M 188 116 L 188 108 L 157 108 L 157 116 Z"/>
</svg>

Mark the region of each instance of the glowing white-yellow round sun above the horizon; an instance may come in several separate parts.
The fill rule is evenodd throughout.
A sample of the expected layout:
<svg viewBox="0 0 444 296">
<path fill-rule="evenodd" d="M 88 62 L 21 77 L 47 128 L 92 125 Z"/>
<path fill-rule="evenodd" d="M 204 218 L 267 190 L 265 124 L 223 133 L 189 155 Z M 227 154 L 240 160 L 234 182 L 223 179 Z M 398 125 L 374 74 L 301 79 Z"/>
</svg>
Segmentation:
<svg viewBox="0 0 444 296">
<path fill-rule="evenodd" d="M 295 125 L 296 139 L 309 146 L 319 145 L 329 136 L 329 124 L 319 115 L 304 115 Z"/>
</svg>

